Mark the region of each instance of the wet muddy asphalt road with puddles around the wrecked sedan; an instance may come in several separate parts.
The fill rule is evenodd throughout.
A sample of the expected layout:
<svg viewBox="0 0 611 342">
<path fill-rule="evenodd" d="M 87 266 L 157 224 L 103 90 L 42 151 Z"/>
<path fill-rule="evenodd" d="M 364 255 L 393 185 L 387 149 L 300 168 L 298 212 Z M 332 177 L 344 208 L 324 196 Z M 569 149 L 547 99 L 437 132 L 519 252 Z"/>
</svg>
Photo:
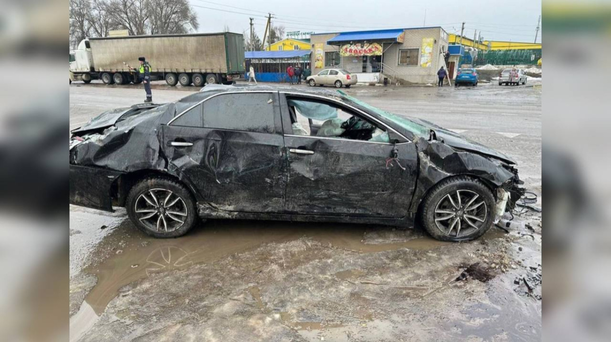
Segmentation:
<svg viewBox="0 0 611 342">
<path fill-rule="evenodd" d="M 533 84 L 535 85 L 533 87 Z M 196 88 L 153 83 L 155 102 Z M 355 86 L 346 93 L 427 119 L 516 159 L 541 193 L 541 87 Z M 139 86 L 70 86 L 70 129 L 144 99 Z M 527 227 L 530 226 L 530 227 Z M 440 243 L 419 230 L 210 221 L 155 240 L 125 211 L 70 207 L 71 341 L 539 340 L 541 215 L 509 233 Z M 474 262 L 490 282 L 453 280 Z M 536 282 L 535 282 L 536 283 Z"/>
</svg>

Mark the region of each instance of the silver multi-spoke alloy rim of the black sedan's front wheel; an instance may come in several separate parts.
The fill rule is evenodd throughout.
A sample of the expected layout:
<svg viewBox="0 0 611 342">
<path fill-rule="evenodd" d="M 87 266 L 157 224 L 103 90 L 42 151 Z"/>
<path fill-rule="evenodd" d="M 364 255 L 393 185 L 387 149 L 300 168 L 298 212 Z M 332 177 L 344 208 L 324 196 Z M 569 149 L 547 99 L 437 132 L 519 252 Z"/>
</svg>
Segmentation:
<svg viewBox="0 0 611 342">
<path fill-rule="evenodd" d="M 477 232 L 484 226 L 486 218 L 486 202 L 471 190 L 453 191 L 440 199 L 435 207 L 437 229 L 451 237 L 465 237 Z"/>
</svg>

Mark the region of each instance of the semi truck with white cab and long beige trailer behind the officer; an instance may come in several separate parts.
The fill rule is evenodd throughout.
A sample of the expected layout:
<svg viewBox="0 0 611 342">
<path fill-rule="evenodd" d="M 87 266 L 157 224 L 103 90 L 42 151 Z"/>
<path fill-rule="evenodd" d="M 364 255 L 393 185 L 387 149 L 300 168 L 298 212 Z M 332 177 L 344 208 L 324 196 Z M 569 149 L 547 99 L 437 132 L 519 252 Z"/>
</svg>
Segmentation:
<svg viewBox="0 0 611 342">
<path fill-rule="evenodd" d="M 87 38 L 70 54 L 70 82 L 137 84 L 138 57 L 153 80 L 172 86 L 231 84 L 244 74 L 244 37 L 232 32 Z"/>
</svg>

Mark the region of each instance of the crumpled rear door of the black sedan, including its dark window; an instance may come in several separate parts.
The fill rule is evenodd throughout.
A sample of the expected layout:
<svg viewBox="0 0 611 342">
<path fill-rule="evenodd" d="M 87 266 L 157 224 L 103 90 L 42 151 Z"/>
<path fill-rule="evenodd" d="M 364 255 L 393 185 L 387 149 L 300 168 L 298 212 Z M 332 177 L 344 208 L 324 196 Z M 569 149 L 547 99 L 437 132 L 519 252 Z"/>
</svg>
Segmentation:
<svg viewBox="0 0 611 342">
<path fill-rule="evenodd" d="M 279 213 L 284 139 L 277 91 L 221 93 L 163 126 L 164 152 L 200 210 Z"/>
</svg>

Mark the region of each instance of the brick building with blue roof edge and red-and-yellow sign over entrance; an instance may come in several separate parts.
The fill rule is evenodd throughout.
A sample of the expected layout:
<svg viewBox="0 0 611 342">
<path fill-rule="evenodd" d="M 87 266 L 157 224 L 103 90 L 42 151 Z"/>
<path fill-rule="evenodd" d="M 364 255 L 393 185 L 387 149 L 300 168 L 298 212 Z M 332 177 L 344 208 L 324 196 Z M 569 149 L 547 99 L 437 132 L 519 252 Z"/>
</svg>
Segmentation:
<svg viewBox="0 0 611 342">
<path fill-rule="evenodd" d="M 435 83 L 448 34 L 441 27 L 335 32 L 310 36 L 312 74 L 326 68 L 356 73 L 359 82 Z"/>
</svg>

